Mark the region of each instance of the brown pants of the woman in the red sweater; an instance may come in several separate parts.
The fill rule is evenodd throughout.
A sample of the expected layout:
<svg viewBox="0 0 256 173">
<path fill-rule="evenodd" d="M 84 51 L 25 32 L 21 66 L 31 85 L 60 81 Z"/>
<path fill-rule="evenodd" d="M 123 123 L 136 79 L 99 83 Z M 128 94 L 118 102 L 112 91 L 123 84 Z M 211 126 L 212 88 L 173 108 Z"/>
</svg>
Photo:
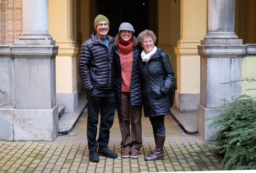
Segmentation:
<svg viewBox="0 0 256 173">
<path fill-rule="evenodd" d="M 128 152 L 139 152 L 142 146 L 141 116 L 142 106 L 132 106 L 130 92 L 122 92 L 122 110 L 117 110 L 122 134 L 121 148 Z M 131 129 L 130 129 L 131 125 Z"/>
</svg>

